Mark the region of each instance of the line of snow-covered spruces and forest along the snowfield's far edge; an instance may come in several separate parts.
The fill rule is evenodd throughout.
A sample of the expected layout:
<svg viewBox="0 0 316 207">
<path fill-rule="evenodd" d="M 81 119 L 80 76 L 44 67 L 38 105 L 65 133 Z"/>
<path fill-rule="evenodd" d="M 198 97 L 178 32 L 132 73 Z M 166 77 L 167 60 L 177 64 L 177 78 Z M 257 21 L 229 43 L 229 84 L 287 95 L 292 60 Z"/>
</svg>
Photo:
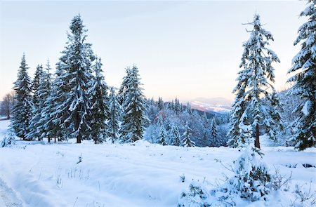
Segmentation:
<svg viewBox="0 0 316 207">
<path fill-rule="evenodd" d="M 293 122 L 294 142 L 296 148 L 305 149 L 315 146 L 316 142 L 315 11 L 303 11 L 301 16 L 307 16 L 309 21 L 300 27 L 294 43 L 303 41 L 289 70 L 289 73 L 299 72 L 289 79 L 294 86 L 288 94 L 301 100 Z M 209 120 L 206 115 L 192 112 L 190 105 L 180 106 L 177 99 L 168 105 L 162 98 L 158 102 L 147 100 L 135 65 L 126 68 L 117 93 L 107 86 L 101 59 L 93 53 L 91 44 L 86 43 L 87 30 L 80 15 L 72 19 L 55 74 L 51 74 L 48 62 L 45 69 L 41 65 L 37 67 L 31 81 L 25 55 L 22 56 L 18 80 L 14 83 L 11 127 L 22 140 L 48 138 L 50 142 L 51 139 L 76 138 L 77 143 L 85 139 L 100 143 L 110 138 L 112 142 L 135 142 L 145 135 L 145 139 L 162 145 L 173 145 L 181 138 L 179 145 L 190 143 L 186 145 L 201 147 L 226 145 L 227 141 L 228 145 L 238 147 L 239 142 L 247 140 L 244 134 L 249 134 L 255 138 L 255 147 L 260 149 L 261 135 L 277 140 L 279 131 L 284 128 L 284 112 L 273 87 L 272 63 L 279 62 L 279 58 L 267 47 L 269 41 L 274 40 L 272 34 L 263 29 L 259 15 L 255 15 L 249 25 L 253 29 L 248 31 L 250 38 L 243 44 L 239 65 L 243 69 L 238 73 L 238 84 L 233 90 L 236 98 L 228 135 L 218 136 L 216 123 L 220 117 Z M 228 131 L 225 126 L 222 129 Z"/>
</svg>

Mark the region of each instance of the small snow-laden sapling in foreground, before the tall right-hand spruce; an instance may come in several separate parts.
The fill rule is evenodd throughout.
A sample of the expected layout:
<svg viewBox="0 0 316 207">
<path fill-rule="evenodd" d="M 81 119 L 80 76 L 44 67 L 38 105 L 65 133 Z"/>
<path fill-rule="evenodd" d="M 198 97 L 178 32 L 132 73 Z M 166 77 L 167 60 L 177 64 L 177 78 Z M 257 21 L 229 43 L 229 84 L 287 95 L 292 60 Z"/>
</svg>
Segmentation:
<svg viewBox="0 0 316 207">
<path fill-rule="evenodd" d="M 211 195 L 218 201 L 235 203 L 244 199 L 246 201 L 265 200 L 271 189 L 272 176 L 262 160 L 260 149 L 251 147 L 254 137 L 251 126 L 239 124 L 240 135 L 239 150 L 242 154 L 234 161 L 232 168 L 228 168 L 234 175 L 226 178 L 223 185 L 211 190 Z"/>
</svg>

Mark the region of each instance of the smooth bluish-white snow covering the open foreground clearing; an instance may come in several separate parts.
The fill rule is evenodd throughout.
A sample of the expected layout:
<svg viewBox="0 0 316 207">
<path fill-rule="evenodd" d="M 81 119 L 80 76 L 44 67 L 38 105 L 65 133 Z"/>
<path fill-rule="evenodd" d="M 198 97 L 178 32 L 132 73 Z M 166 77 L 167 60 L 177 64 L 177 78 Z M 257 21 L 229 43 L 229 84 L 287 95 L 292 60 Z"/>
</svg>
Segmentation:
<svg viewBox="0 0 316 207">
<path fill-rule="evenodd" d="M 0 121 L 0 140 L 7 127 L 8 121 Z M 303 167 L 316 166 L 315 149 L 265 147 L 263 152 L 271 173 L 275 168 L 284 175 L 292 172 L 291 189 L 296 184 L 308 187 L 312 181 L 315 190 L 316 168 Z M 0 206 L 177 206 L 181 190 L 192 180 L 215 184 L 222 173 L 230 175 L 214 159 L 230 164 L 239 153 L 227 147 L 186 149 L 147 142 L 30 145 L 18 141 L 0 148 Z M 185 182 L 180 175 L 185 175 Z M 295 196 L 275 198 L 268 206 L 289 206 Z"/>
</svg>

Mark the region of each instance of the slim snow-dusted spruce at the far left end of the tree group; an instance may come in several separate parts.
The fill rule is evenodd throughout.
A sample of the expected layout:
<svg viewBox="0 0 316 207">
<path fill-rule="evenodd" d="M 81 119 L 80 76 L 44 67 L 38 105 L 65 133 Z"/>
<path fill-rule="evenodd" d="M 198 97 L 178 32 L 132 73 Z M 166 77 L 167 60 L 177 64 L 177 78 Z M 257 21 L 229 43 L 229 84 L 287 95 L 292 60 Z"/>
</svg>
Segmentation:
<svg viewBox="0 0 316 207">
<path fill-rule="evenodd" d="M 13 106 L 13 117 L 11 119 L 11 127 L 22 140 L 27 140 L 29 133 L 29 123 L 32 119 L 32 83 L 27 74 L 27 63 L 23 54 L 20 69 L 18 71 L 18 79 L 14 82 L 15 105 Z"/>
</svg>

